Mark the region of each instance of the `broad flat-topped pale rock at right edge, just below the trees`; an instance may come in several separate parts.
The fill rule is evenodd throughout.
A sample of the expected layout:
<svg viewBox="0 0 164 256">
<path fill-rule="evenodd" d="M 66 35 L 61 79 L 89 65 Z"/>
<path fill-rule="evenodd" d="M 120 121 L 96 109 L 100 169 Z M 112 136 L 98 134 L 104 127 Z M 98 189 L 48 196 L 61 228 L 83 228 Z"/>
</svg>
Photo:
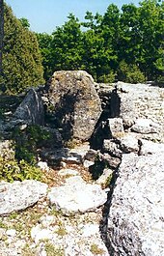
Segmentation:
<svg viewBox="0 0 164 256">
<path fill-rule="evenodd" d="M 118 82 L 117 96 L 124 128 L 132 127 L 137 119 L 151 120 L 156 133 L 148 134 L 147 138 L 164 142 L 164 88 Z M 113 102 L 115 107 L 116 102 Z"/>
</svg>

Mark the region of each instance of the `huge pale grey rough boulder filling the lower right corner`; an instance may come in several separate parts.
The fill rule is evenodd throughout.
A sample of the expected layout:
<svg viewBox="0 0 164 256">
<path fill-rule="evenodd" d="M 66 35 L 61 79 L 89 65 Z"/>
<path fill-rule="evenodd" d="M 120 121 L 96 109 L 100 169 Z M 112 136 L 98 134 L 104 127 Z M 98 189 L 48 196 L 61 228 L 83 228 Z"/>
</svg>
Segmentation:
<svg viewBox="0 0 164 256">
<path fill-rule="evenodd" d="M 123 155 L 108 217 L 110 255 L 164 255 L 162 154 Z"/>
</svg>

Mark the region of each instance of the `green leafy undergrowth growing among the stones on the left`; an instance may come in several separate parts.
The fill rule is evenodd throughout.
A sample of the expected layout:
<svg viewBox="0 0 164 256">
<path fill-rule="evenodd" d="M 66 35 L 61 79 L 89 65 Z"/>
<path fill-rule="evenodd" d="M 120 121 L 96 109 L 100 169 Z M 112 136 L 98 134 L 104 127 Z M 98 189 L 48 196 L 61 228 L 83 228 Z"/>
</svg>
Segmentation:
<svg viewBox="0 0 164 256">
<path fill-rule="evenodd" d="M 38 148 L 49 133 L 39 126 L 29 126 L 14 130 L 13 155 L 6 150 L 0 156 L 0 181 L 14 182 L 23 180 L 41 181 L 43 174 L 37 167 Z"/>
</svg>

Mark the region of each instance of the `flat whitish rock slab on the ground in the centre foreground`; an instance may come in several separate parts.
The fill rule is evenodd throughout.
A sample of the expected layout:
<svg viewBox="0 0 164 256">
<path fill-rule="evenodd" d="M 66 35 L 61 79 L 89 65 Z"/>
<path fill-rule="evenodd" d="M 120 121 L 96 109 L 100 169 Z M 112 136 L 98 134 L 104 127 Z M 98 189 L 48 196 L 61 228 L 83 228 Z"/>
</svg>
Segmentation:
<svg viewBox="0 0 164 256">
<path fill-rule="evenodd" d="M 50 204 L 66 215 L 95 211 L 107 200 L 107 193 L 100 185 L 86 184 L 79 176 L 67 179 L 60 187 L 48 193 Z"/>
</svg>

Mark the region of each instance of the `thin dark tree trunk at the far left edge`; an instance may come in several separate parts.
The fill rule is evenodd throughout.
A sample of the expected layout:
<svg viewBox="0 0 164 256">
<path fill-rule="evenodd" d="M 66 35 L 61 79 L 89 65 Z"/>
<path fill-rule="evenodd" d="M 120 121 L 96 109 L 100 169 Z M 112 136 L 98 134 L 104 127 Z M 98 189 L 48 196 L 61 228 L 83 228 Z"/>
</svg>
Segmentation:
<svg viewBox="0 0 164 256">
<path fill-rule="evenodd" d="M 4 38 L 4 0 L 0 0 L 0 76 L 3 75 L 3 69 L 2 69 L 3 38 Z"/>
</svg>

